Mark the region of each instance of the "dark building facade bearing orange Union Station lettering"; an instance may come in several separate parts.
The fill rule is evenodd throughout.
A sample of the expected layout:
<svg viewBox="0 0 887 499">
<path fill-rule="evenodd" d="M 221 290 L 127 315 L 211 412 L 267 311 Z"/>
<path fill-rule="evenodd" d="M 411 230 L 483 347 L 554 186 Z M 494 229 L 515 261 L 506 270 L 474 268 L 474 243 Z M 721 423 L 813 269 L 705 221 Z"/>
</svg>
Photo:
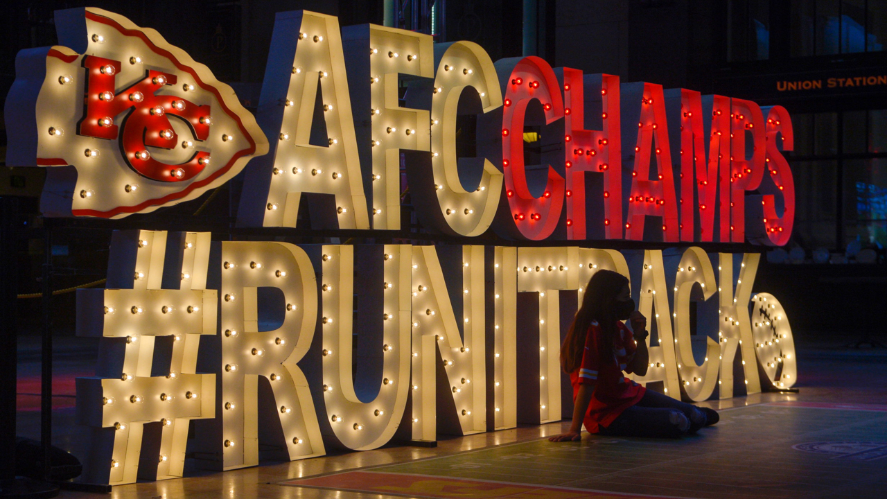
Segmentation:
<svg viewBox="0 0 887 499">
<path fill-rule="evenodd" d="M 779 104 L 792 115 L 789 246 L 887 244 L 887 3 L 558 2 L 554 63 Z"/>
</svg>

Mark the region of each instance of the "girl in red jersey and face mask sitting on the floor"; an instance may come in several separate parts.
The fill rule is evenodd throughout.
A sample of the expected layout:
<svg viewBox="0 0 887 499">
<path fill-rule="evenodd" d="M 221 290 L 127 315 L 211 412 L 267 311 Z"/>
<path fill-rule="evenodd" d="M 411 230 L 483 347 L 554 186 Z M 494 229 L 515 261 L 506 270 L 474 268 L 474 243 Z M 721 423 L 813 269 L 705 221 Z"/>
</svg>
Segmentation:
<svg viewBox="0 0 887 499">
<path fill-rule="evenodd" d="M 548 440 L 580 440 L 590 433 L 676 438 L 718 422 L 718 413 L 647 390 L 622 371 L 647 374 L 647 319 L 634 308 L 628 280 L 599 270 L 585 288 L 582 307 L 561 345 L 561 367 L 573 384 L 569 432 Z M 621 321 L 630 321 L 629 330 Z"/>
</svg>

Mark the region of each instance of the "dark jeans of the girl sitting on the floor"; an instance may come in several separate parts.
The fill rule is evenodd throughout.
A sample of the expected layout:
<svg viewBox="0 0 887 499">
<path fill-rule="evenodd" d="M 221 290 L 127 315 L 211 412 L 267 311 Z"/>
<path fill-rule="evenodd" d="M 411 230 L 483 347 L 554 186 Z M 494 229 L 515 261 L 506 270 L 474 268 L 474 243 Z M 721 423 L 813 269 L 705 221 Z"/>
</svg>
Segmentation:
<svg viewBox="0 0 887 499">
<path fill-rule="evenodd" d="M 608 437 L 677 438 L 695 433 L 705 424 L 699 408 L 648 390 L 638 403 L 623 411 L 598 434 Z"/>
</svg>

